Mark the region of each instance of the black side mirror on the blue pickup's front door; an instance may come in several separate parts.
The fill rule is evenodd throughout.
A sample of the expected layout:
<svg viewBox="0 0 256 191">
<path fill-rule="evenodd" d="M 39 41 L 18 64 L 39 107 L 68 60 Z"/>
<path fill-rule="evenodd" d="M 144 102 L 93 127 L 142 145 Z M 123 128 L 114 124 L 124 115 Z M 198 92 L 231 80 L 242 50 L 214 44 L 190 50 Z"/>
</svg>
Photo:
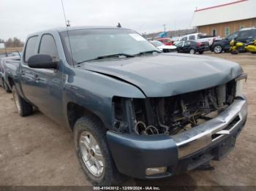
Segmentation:
<svg viewBox="0 0 256 191">
<path fill-rule="evenodd" d="M 50 55 L 32 55 L 28 65 L 33 69 L 57 69 L 58 61 L 53 61 Z"/>
</svg>

